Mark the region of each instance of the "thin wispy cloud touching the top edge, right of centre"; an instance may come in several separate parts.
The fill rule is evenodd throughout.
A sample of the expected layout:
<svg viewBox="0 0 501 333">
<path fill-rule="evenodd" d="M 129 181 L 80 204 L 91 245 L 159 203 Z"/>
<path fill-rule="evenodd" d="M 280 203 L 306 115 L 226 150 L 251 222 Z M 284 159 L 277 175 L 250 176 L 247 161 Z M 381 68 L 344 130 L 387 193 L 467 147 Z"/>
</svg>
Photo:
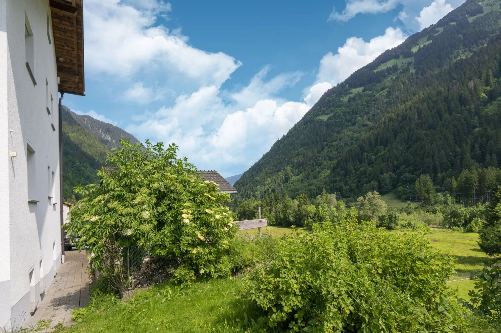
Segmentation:
<svg viewBox="0 0 501 333">
<path fill-rule="evenodd" d="M 379 13 L 395 9 L 401 1 L 399 0 L 347 0 L 346 7 L 341 13 L 334 7 L 328 20 L 346 22 L 355 17 L 358 13 Z"/>
</svg>

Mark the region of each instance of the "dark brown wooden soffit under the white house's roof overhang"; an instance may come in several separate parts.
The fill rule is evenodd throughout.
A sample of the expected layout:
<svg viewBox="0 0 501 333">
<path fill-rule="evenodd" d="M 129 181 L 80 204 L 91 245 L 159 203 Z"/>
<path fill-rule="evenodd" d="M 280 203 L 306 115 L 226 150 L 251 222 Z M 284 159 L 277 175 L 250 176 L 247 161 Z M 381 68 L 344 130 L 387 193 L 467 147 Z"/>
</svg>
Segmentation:
<svg viewBox="0 0 501 333">
<path fill-rule="evenodd" d="M 49 0 L 59 91 L 85 95 L 83 0 Z"/>
</svg>

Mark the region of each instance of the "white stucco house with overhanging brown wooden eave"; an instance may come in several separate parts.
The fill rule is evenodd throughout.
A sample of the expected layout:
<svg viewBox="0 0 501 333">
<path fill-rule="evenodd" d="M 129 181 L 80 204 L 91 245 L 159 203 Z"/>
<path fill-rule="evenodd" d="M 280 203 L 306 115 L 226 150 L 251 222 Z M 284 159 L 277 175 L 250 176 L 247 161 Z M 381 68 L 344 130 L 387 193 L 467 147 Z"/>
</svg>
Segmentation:
<svg viewBox="0 0 501 333">
<path fill-rule="evenodd" d="M 0 328 L 61 264 L 58 92 L 84 94 L 82 22 L 82 0 L 0 0 Z"/>
</svg>

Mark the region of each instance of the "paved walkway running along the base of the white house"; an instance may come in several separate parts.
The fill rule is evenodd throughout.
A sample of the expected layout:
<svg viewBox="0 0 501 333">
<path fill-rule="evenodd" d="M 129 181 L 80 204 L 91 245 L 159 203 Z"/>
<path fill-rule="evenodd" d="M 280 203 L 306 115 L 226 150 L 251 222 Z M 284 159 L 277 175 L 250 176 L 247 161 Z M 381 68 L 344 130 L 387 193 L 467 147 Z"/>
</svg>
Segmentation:
<svg viewBox="0 0 501 333">
<path fill-rule="evenodd" d="M 26 321 L 26 327 L 45 327 L 41 332 L 50 332 L 60 322 L 63 326 L 71 326 L 72 312 L 76 307 L 82 307 L 89 301 L 89 271 L 85 250 L 66 251 L 66 262 L 46 291 L 38 309 Z M 39 320 L 45 320 L 39 323 Z"/>
</svg>

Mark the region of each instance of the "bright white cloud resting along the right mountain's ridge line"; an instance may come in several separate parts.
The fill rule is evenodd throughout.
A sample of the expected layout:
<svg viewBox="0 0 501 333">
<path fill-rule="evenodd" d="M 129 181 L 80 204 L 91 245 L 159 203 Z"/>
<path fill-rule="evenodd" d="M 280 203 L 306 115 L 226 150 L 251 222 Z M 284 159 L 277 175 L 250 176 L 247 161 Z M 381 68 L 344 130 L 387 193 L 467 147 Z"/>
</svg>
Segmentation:
<svg viewBox="0 0 501 333">
<path fill-rule="evenodd" d="M 368 42 L 358 37 L 348 38 L 345 44 L 338 48 L 338 53 L 329 52 L 320 60 L 317 83 L 329 82 L 334 86 L 342 82 L 385 50 L 402 43 L 406 37 L 400 28 L 390 26 L 384 35 L 374 37 Z"/>
</svg>

